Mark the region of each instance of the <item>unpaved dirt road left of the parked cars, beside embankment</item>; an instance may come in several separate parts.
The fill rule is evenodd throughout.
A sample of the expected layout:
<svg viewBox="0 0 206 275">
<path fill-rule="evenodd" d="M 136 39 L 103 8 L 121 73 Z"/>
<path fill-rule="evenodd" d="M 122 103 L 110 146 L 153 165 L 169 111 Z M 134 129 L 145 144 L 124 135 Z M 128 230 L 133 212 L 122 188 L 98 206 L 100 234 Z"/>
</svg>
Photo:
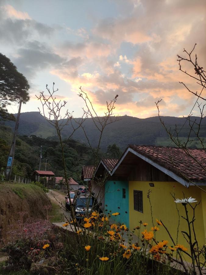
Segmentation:
<svg viewBox="0 0 206 275">
<path fill-rule="evenodd" d="M 67 212 L 65 210 L 65 196 L 66 196 L 66 194 L 56 191 L 56 190 L 49 190 L 49 192 L 47 193 L 47 196 L 49 197 L 49 199 L 52 203 L 59 205 L 59 212 L 62 212 L 64 214 L 64 220 L 66 221 L 66 218 L 70 220 L 70 212 Z M 61 203 L 62 203 L 62 205 L 61 205 Z"/>
</svg>

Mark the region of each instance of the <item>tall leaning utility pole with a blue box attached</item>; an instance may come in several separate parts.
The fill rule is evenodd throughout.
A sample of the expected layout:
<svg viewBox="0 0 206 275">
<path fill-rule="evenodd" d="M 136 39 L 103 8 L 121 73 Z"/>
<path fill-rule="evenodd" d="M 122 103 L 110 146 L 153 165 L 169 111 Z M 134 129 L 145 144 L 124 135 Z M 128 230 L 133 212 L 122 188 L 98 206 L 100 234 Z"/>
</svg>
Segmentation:
<svg viewBox="0 0 206 275">
<path fill-rule="evenodd" d="M 17 135 L 17 131 L 19 128 L 19 118 L 20 118 L 20 112 L 21 112 L 21 101 L 19 103 L 19 110 L 18 110 L 18 114 L 16 117 L 16 124 L 15 124 L 15 129 L 14 129 L 14 135 L 13 135 L 13 140 L 12 140 L 12 145 L 10 148 L 10 152 L 9 152 L 9 157 L 8 157 L 8 162 L 7 162 L 7 166 L 6 166 L 6 178 L 7 180 L 10 180 L 11 178 L 11 173 L 12 173 L 12 165 L 13 165 L 13 160 L 14 160 L 14 153 L 15 153 L 15 144 L 16 144 L 16 135 Z"/>
</svg>

